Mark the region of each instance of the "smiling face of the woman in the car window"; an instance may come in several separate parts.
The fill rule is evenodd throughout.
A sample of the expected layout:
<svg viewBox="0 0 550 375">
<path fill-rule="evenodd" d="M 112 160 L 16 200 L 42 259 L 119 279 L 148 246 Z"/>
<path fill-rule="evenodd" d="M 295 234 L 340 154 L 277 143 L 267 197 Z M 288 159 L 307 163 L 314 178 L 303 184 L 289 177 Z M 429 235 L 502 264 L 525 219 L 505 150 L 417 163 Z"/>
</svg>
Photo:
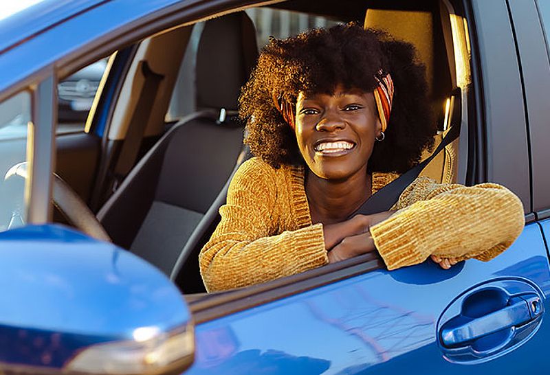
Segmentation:
<svg viewBox="0 0 550 375">
<path fill-rule="evenodd" d="M 345 180 L 366 173 L 380 129 L 373 93 L 338 86 L 332 95 L 298 95 L 298 148 L 309 169 L 322 179 Z"/>
</svg>

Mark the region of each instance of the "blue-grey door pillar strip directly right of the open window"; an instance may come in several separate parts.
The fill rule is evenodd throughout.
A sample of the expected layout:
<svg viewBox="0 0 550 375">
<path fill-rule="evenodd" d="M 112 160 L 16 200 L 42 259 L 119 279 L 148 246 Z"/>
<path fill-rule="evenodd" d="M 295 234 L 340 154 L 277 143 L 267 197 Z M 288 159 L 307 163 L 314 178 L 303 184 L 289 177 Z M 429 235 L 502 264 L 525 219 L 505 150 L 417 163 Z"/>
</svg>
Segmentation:
<svg viewBox="0 0 550 375">
<path fill-rule="evenodd" d="M 501 183 L 531 212 L 527 123 L 514 34 L 506 1 L 472 1 L 483 81 L 483 125 L 486 132 L 485 181 Z M 472 49 L 474 46 L 472 46 Z M 506 77 L 506 80 L 503 79 Z M 515 151 L 514 158 L 509 150 Z M 509 173 L 514 170 L 514 173 Z"/>
</svg>

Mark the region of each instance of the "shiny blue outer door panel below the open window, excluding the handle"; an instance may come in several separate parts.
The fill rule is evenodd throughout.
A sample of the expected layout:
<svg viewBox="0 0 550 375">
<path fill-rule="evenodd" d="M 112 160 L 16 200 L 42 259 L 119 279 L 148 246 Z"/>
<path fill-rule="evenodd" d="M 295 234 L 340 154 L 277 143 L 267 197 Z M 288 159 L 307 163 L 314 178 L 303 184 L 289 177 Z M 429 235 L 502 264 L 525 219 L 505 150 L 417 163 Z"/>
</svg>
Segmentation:
<svg viewBox="0 0 550 375">
<path fill-rule="evenodd" d="M 437 344 L 439 317 L 456 297 L 483 282 L 510 279 L 540 289 L 550 308 L 549 266 L 536 224 L 491 262 L 468 260 L 445 271 L 428 260 L 397 271 L 373 271 L 203 323 L 197 326 L 195 364 L 186 374 L 537 370 L 546 360 L 542 350 L 549 339 L 550 323 L 544 319 L 516 350 L 476 365 L 445 360 Z"/>
</svg>

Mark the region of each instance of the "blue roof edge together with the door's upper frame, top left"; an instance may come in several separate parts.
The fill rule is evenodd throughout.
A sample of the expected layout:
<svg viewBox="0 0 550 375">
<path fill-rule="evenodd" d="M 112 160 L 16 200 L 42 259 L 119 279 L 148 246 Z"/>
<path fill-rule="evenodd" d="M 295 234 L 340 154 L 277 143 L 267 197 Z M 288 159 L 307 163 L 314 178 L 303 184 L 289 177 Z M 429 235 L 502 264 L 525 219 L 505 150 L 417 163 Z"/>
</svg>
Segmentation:
<svg viewBox="0 0 550 375">
<path fill-rule="evenodd" d="M 146 22 L 170 5 L 196 3 L 201 0 L 42 0 L 8 16 L 0 20 L 0 101 L 75 52 L 93 55 L 131 23 Z"/>
</svg>

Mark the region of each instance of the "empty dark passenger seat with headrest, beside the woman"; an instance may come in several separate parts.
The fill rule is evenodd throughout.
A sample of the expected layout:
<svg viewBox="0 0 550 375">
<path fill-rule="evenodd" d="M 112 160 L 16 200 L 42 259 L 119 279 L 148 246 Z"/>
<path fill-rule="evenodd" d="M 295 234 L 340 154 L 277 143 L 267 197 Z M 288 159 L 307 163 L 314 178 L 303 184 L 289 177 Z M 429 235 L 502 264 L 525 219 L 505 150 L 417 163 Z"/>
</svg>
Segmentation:
<svg viewBox="0 0 550 375">
<path fill-rule="evenodd" d="M 257 55 L 244 12 L 206 21 L 197 49 L 197 112 L 157 141 L 98 212 L 115 244 L 168 275 L 241 155 L 237 99 Z"/>
</svg>

